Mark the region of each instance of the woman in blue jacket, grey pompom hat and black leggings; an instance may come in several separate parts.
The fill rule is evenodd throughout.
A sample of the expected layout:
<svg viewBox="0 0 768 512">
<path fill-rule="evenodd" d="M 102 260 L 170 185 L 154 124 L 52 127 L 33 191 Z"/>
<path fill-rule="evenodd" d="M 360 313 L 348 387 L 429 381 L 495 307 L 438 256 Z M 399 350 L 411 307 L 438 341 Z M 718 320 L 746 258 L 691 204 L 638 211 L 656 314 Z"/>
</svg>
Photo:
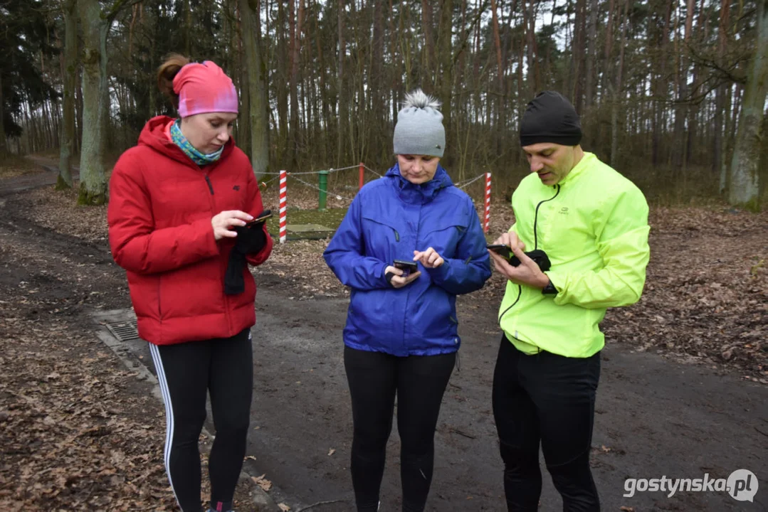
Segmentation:
<svg viewBox="0 0 768 512">
<path fill-rule="evenodd" d="M 395 395 L 402 510 L 424 510 L 440 402 L 461 345 L 456 296 L 491 276 L 475 206 L 440 167 L 438 107 L 421 90 L 406 96 L 395 127 L 397 164 L 362 187 L 323 254 L 352 289 L 344 366 L 359 512 L 378 509 Z M 418 269 L 407 273 L 395 260 Z"/>
</svg>

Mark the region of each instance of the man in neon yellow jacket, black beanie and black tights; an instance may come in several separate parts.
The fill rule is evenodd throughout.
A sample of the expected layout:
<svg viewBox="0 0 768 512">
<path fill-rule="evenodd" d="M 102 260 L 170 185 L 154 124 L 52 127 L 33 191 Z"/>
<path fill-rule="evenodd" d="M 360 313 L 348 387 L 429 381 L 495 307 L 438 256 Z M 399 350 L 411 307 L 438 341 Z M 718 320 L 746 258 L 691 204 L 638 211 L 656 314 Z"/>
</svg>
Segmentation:
<svg viewBox="0 0 768 512">
<path fill-rule="evenodd" d="M 512 196 L 515 224 L 495 242 L 518 262 L 491 253 L 508 279 L 493 383 L 507 506 L 537 510 L 541 442 L 564 510 L 600 510 L 589 467 L 599 325 L 607 308 L 640 299 L 648 206 L 631 181 L 581 149 L 578 114 L 561 94 L 528 104 L 520 140 L 531 174 Z M 535 259 L 545 269 L 526 255 L 542 252 L 549 265 Z"/>
</svg>

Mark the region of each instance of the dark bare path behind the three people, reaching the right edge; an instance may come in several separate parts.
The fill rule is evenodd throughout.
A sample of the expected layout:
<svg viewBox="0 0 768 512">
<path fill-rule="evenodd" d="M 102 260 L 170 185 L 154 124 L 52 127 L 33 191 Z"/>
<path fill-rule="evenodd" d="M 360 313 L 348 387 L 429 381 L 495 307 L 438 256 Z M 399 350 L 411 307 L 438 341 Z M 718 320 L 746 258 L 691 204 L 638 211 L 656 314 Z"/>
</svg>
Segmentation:
<svg viewBox="0 0 768 512">
<path fill-rule="evenodd" d="M 265 279 L 266 280 L 266 279 Z M 346 301 L 294 301 L 270 282 L 257 299 L 255 399 L 250 451 L 292 505 L 343 500 L 317 510 L 353 510 L 347 461 L 351 413 L 339 339 Z M 498 331 L 493 315 L 462 300 L 461 370 L 445 394 L 436 434 L 435 481 L 427 510 L 503 510 L 501 461 L 491 412 Z M 149 360 L 144 344 L 137 354 Z M 592 465 L 604 510 L 766 510 L 725 493 L 637 493 L 624 479 L 727 478 L 740 468 L 768 474 L 768 389 L 706 368 L 615 344 L 603 355 Z M 333 451 L 333 454 L 329 454 Z M 399 510 L 399 441 L 389 442 L 382 510 Z M 383 508 L 385 507 L 386 508 Z M 558 510 L 545 476 L 541 510 Z"/>
</svg>

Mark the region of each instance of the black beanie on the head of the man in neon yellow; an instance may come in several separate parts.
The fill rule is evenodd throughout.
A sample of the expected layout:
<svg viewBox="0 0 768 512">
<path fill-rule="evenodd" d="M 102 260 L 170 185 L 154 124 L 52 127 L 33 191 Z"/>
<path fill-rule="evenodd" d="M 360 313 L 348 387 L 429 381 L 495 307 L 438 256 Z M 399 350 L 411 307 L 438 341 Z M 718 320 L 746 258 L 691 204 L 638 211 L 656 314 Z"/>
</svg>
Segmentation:
<svg viewBox="0 0 768 512">
<path fill-rule="evenodd" d="M 528 103 L 520 121 L 520 145 L 552 142 L 576 146 L 581 142 L 581 123 L 570 101 L 554 91 L 544 91 Z"/>
</svg>

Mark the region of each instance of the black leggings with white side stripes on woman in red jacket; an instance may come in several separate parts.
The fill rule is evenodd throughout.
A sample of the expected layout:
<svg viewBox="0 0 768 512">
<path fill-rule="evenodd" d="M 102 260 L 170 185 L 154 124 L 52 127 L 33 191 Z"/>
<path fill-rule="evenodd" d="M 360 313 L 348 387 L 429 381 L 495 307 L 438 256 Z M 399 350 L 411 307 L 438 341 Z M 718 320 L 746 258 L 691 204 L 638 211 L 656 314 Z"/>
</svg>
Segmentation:
<svg viewBox="0 0 768 512">
<path fill-rule="evenodd" d="M 200 512 L 198 438 L 206 394 L 216 438 L 208 458 L 210 507 L 230 510 L 245 456 L 253 393 L 250 330 L 231 338 L 150 344 L 165 402 L 165 469 L 183 512 Z"/>
</svg>

